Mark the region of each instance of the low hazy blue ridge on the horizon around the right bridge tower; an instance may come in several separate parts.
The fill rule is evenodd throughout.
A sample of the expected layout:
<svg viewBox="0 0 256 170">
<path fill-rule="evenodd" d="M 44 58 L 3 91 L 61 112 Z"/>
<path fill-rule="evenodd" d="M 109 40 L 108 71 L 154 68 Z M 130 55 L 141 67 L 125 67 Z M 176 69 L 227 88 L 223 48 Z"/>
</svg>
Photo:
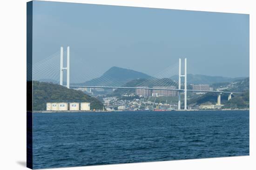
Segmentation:
<svg viewBox="0 0 256 170">
<path fill-rule="evenodd" d="M 171 77 L 174 80 L 178 79 L 178 75 Z M 244 79 L 245 77 L 237 77 L 237 78 L 230 78 L 230 77 L 222 77 L 222 76 L 206 76 L 206 75 L 187 75 L 188 84 L 214 84 L 220 82 L 234 82 L 236 80 Z"/>
</svg>

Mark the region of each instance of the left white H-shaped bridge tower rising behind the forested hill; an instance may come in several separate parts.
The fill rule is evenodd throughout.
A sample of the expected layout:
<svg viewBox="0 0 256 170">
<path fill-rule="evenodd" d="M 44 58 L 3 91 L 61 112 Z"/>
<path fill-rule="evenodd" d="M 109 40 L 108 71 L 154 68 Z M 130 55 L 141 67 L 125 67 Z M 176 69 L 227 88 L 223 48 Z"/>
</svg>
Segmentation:
<svg viewBox="0 0 256 170">
<path fill-rule="evenodd" d="M 69 46 L 67 47 L 67 67 L 63 67 L 63 47 L 61 47 L 60 85 L 63 86 L 63 71 L 67 70 L 67 88 L 69 88 Z"/>
</svg>

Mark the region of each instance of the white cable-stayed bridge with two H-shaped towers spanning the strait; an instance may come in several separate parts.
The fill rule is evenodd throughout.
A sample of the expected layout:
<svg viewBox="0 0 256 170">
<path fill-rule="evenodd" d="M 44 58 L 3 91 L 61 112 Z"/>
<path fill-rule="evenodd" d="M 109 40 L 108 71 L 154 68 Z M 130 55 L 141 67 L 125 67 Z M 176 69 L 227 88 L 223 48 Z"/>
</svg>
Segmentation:
<svg viewBox="0 0 256 170">
<path fill-rule="evenodd" d="M 64 56 L 66 58 L 64 58 Z M 81 61 L 83 63 L 84 61 Z M 65 66 L 65 67 L 64 67 Z M 76 76 L 70 76 L 70 50 L 64 51 L 61 47 L 60 51 L 57 51 L 53 55 L 46 57 L 39 63 L 33 64 L 33 80 L 56 80 L 59 78 L 59 83 L 67 88 L 111 88 L 111 89 L 145 89 L 145 90 L 166 90 L 176 91 L 178 93 L 178 110 L 181 109 L 181 94 L 184 94 L 184 110 L 187 109 L 187 92 L 213 92 L 217 93 L 217 105 L 221 105 L 221 94 L 228 93 L 228 100 L 231 99 L 232 94 L 238 92 L 216 91 L 216 90 L 193 90 L 187 89 L 187 58 L 184 59 L 184 66 L 182 70 L 182 60 L 179 59 L 178 63 L 163 69 L 161 72 L 152 76 L 135 87 L 124 86 L 121 82 L 115 78 L 99 73 L 90 64 L 86 65 L 87 74 L 76 74 Z M 89 69 L 88 69 L 89 68 Z M 67 77 L 64 77 L 65 74 Z M 182 74 L 183 73 L 183 74 Z M 77 77 L 79 75 L 80 77 Z M 90 76 L 88 76 L 90 75 Z M 64 85 L 64 79 L 66 78 L 66 85 Z M 70 80 L 79 82 L 79 80 L 90 79 L 88 83 L 70 83 Z M 182 81 L 183 79 L 183 81 Z M 57 81 L 55 81 L 57 82 Z M 183 84 L 182 84 L 183 82 Z M 164 88 L 164 87 L 172 88 Z M 152 87 L 152 88 L 151 88 Z"/>
</svg>

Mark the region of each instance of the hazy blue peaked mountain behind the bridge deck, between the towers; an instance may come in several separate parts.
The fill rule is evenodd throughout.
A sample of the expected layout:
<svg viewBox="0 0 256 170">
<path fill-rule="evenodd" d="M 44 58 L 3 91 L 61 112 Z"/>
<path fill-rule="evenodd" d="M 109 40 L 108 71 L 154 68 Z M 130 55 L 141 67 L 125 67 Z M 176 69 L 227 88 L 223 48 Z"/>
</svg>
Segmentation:
<svg viewBox="0 0 256 170">
<path fill-rule="evenodd" d="M 79 83 L 76 85 L 88 85 L 88 86 L 122 86 L 125 83 L 134 79 L 144 78 L 148 79 L 151 76 L 147 74 L 134 71 L 131 69 L 124 69 L 120 67 L 111 67 L 102 76 L 94 78 L 90 81 Z"/>
</svg>

